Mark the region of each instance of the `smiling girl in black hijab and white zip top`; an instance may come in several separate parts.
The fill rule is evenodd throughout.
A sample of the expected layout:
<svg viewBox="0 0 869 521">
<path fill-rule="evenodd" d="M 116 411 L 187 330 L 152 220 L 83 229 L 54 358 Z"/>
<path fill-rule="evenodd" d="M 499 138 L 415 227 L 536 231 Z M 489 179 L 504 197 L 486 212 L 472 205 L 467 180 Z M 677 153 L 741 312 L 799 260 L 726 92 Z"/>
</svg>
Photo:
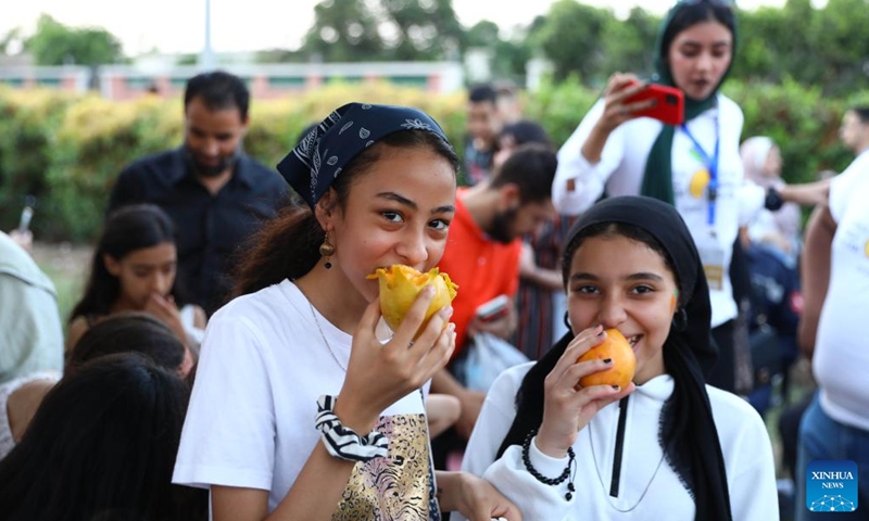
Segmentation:
<svg viewBox="0 0 869 521">
<path fill-rule="evenodd" d="M 524 519 L 778 519 L 763 420 L 705 384 L 717 356 L 709 291 L 678 212 L 644 196 L 596 204 L 568 236 L 563 274 L 572 331 L 499 377 L 463 470 Z M 576 360 L 609 328 L 633 345 L 633 382 L 582 387 L 609 364 Z"/>
</svg>

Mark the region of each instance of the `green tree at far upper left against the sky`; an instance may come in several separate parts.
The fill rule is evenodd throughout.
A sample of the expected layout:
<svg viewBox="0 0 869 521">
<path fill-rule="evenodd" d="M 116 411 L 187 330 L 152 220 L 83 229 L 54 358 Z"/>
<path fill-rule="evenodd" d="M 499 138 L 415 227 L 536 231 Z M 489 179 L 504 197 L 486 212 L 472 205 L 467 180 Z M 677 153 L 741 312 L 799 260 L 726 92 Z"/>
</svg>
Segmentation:
<svg viewBox="0 0 869 521">
<path fill-rule="evenodd" d="M 108 30 L 67 27 L 47 14 L 39 16 L 24 48 L 38 65 L 100 65 L 124 59 L 121 42 Z"/>
</svg>

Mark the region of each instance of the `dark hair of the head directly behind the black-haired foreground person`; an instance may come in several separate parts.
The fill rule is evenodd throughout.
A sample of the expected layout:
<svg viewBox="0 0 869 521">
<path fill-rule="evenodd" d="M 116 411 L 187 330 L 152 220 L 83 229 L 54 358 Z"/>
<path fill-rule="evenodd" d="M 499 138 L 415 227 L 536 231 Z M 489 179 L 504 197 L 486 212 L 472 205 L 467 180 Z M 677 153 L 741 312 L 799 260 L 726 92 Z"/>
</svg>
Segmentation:
<svg viewBox="0 0 869 521">
<path fill-rule="evenodd" d="M 162 320 L 141 312 L 124 312 L 95 323 L 67 353 L 64 372 L 70 374 L 86 363 L 117 353 L 141 353 L 158 366 L 178 371 L 186 348 Z"/>
</svg>

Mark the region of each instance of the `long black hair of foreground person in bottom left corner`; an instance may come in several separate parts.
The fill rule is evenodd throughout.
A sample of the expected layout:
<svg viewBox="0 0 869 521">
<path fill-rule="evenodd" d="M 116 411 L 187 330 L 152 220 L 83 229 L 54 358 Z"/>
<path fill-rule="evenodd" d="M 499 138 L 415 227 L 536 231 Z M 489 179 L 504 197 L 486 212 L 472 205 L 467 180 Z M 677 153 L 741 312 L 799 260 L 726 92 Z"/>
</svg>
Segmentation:
<svg viewBox="0 0 869 521">
<path fill-rule="evenodd" d="M 3 519 L 204 520 L 207 493 L 172 484 L 188 398 L 177 376 L 134 353 L 63 378 L 0 461 Z"/>
</svg>

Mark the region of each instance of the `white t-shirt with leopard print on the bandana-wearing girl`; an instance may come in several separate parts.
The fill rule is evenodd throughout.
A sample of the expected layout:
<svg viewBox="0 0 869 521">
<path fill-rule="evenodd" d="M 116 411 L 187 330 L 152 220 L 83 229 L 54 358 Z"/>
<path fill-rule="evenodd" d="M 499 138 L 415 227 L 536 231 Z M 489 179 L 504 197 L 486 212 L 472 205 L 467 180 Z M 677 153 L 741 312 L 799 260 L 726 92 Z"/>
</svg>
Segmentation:
<svg viewBox="0 0 869 521">
<path fill-rule="evenodd" d="M 278 506 L 320 443 L 317 397 L 338 394 L 350 358 L 352 336 L 318 313 L 317 320 L 323 334 L 286 280 L 212 317 L 174 483 L 265 490 L 269 512 Z M 421 393 L 385 410 L 377 430 L 389 437 L 389 456 L 356 465 L 332 519 L 438 519 Z"/>
</svg>

